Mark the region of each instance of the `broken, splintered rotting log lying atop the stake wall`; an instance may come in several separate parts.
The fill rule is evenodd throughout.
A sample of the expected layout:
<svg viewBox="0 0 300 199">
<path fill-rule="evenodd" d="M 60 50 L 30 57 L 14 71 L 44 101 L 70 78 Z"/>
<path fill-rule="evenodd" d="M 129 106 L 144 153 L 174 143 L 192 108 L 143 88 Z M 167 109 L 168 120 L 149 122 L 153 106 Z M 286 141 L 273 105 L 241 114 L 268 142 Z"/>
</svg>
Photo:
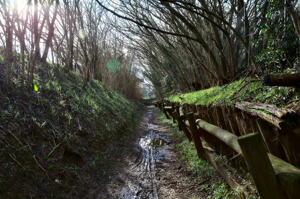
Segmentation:
<svg viewBox="0 0 300 199">
<path fill-rule="evenodd" d="M 249 102 L 237 102 L 235 107 L 252 116 L 259 117 L 279 129 L 297 127 L 300 125 L 299 115 L 287 108 L 278 108 L 274 105 Z"/>
</svg>

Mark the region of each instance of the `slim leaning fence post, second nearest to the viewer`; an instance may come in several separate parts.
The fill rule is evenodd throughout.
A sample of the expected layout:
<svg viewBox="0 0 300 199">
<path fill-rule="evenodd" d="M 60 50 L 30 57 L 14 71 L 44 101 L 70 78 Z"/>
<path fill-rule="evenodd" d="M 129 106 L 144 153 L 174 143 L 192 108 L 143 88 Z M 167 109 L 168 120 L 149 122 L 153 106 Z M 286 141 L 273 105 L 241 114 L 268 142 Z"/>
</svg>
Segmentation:
<svg viewBox="0 0 300 199">
<path fill-rule="evenodd" d="M 187 113 L 186 114 L 188 123 L 189 123 L 189 128 L 192 134 L 192 139 L 194 140 L 195 147 L 197 150 L 198 158 L 201 160 L 205 160 L 205 155 L 204 155 L 204 149 L 201 143 L 200 135 L 198 133 L 197 125 L 195 123 L 195 118 L 193 115 L 193 112 Z"/>
</svg>

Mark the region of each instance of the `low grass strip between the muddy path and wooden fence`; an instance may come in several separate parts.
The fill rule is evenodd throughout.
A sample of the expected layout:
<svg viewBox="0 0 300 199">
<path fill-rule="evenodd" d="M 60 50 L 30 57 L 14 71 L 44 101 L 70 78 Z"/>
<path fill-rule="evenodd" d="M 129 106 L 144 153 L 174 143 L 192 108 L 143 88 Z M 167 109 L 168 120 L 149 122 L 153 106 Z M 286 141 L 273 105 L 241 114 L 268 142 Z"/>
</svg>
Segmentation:
<svg viewBox="0 0 300 199">
<path fill-rule="evenodd" d="M 195 179 L 195 184 L 203 182 L 204 180 L 211 178 L 207 183 L 197 187 L 201 189 L 203 195 L 201 198 L 205 197 L 207 199 L 239 199 L 242 195 L 240 190 L 232 190 L 229 188 L 227 183 L 222 179 L 222 177 L 217 173 L 213 166 L 208 161 L 199 160 L 197 152 L 193 142 L 189 142 L 185 135 L 178 131 L 177 125 L 173 124 L 171 120 L 167 120 L 164 114 L 160 113 L 159 116 L 160 123 L 167 125 L 172 130 L 173 134 L 179 138 L 179 143 L 176 145 L 176 149 L 181 155 L 181 161 L 185 165 L 183 169 L 190 171 Z M 205 146 L 205 141 L 202 140 L 202 144 Z M 222 161 L 222 157 L 218 157 L 217 162 Z M 250 179 L 241 181 L 241 185 L 249 183 Z M 255 195 L 250 195 L 249 199 L 259 199 Z"/>
</svg>

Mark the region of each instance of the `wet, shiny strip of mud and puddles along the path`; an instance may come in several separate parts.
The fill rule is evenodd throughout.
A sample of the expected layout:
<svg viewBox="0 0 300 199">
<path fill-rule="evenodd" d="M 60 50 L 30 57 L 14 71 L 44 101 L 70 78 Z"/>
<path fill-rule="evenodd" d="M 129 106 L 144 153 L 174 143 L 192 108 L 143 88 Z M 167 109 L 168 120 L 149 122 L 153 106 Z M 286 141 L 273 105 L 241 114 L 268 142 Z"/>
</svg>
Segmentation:
<svg viewBox="0 0 300 199">
<path fill-rule="evenodd" d="M 165 160 L 169 140 L 161 135 L 157 125 L 151 124 L 152 115 L 152 109 L 148 109 L 144 136 L 138 140 L 139 154 L 123 177 L 126 186 L 122 188 L 122 199 L 158 199 L 156 174 Z"/>
</svg>

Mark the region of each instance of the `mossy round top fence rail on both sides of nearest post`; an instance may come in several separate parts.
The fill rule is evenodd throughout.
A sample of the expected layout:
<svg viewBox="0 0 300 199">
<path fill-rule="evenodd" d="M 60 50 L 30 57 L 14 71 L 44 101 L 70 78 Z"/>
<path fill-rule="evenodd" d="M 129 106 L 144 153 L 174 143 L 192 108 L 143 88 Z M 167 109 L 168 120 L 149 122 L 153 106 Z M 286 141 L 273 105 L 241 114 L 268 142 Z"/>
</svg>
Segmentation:
<svg viewBox="0 0 300 199">
<path fill-rule="evenodd" d="M 196 124 L 198 127 L 227 144 L 237 153 L 241 152 L 236 140 L 238 138 L 237 136 L 200 119 L 196 120 Z M 286 190 L 290 199 L 296 199 L 299 196 L 300 169 L 286 163 L 272 154 L 267 153 L 267 155 L 280 185 Z"/>
</svg>

